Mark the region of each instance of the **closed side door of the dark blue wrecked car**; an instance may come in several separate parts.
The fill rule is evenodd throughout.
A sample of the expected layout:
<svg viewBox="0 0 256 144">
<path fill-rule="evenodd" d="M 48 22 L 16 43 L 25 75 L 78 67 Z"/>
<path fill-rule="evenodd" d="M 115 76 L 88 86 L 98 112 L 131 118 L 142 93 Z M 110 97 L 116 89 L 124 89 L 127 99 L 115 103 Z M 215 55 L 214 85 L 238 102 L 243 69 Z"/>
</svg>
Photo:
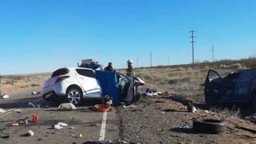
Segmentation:
<svg viewBox="0 0 256 144">
<path fill-rule="evenodd" d="M 247 69 L 240 71 L 240 74 L 234 84 L 234 96 L 236 99 L 249 98 L 249 90 L 252 79 L 255 77 L 255 70 Z"/>
</svg>

